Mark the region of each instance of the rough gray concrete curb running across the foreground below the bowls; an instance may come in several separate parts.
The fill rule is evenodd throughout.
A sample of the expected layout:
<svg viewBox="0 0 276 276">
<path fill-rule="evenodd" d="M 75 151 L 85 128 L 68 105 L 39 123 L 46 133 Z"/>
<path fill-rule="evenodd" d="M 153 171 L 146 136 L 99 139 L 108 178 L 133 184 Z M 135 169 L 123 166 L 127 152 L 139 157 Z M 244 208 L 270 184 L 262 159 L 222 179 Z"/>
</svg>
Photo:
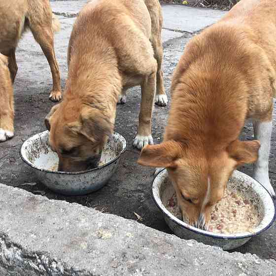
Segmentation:
<svg viewBox="0 0 276 276">
<path fill-rule="evenodd" d="M 127 207 L 127 206 L 126 206 Z M 269 276 L 276 262 L 0 184 L 0 275 Z"/>
</svg>

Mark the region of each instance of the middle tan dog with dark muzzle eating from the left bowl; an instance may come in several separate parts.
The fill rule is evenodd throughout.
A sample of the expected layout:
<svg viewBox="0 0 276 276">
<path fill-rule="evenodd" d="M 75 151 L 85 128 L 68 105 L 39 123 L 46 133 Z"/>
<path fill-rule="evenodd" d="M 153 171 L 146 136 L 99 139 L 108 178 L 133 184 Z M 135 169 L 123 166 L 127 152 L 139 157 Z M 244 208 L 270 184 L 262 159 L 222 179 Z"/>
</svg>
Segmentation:
<svg viewBox="0 0 276 276">
<path fill-rule="evenodd" d="M 158 0 L 92 0 L 80 11 L 68 48 L 64 101 L 45 118 L 59 170 L 95 167 L 112 135 L 117 102 L 140 85 L 137 148 L 152 144 L 151 116 L 167 104 L 162 77 L 162 12 Z"/>
</svg>

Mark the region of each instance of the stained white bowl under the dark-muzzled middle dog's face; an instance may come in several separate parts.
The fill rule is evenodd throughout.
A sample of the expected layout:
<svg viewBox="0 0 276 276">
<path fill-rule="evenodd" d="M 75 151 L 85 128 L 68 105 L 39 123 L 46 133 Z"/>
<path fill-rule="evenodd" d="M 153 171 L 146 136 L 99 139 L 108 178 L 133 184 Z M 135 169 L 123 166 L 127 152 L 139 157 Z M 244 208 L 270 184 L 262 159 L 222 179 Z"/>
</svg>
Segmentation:
<svg viewBox="0 0 276 276">
<path fill-rule="evenodd" d="M 64 195 L 85 195 L 101 189 L 116 171 L 121 154 L 127 148 L 123 136 L 114 133 L 102 151 L 99 166 L 83 172 L 58 172 L 58 156 L 48 142 L 44 131 L 27 139 L 21 146 L 20 156 L 36 173 L 38 180 L 49 189 Z"/>
</svg>

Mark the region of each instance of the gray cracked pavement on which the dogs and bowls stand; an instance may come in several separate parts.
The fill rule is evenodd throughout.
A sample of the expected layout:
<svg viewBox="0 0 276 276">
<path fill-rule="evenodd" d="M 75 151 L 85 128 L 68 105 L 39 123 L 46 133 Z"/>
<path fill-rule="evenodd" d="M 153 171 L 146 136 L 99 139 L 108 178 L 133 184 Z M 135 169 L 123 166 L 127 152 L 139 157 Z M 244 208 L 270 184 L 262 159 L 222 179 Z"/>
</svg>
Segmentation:
<svg viewBox="0 0 276 276">
<path fill-rule="evenodd" d="M 51 2 L 53 11 L 58 15 L 62 27 L 61 32 L 55 36 L 55 51 L 60 66 L 63 86 L 67 77 L 67 46 L 72 24 L 75 20 L 75 15 L 85 2 L 86 1 L 82 0 Z M 165 88 L 169 96 L 173 69 L 183 52 L 185 44 L 194 33 L 216 22 L 220 16 L 224 15 L 224 12 L 210 9 L 194 9 L 179 5 L 165 5 L 163 6 L 163 13 L 163 70 Z M 189 18 L 189 20 L 186 20 L 187 18 Z M 49 199 L 78 203 L 86 207 L 91 207 L 91 209 L 104 208 L 105 212 L 127 219 L 135 220 L 136 216 L 134 212 L 136 212 L 143 216 L 141 221 L 142 224 L 163 232 L 171 233 L 159 209 L 154 205 L 151 198 L 150 186 L 153 180 L 154 170 L 137 165 L 136 161 L 139 152 L 132 147 L 132 141 L 136 135 L 138 124 L 140 89 L 131 89 L 127 96 L 127 103 L 118 105 L 117 107 L 115 131 L 122 134 L 129 144 L 117 173 L 115 173 L 103 189 L 96 193 L 82 197 L 65 197 L 46 189 L 35 178 L 31 168 L 27 167 L 20 159 L 19 149 L 22 142 L 30 136 L 45 130 L 43 123 L 44 116 L 53 105 L 53 103 L 48 100 L 52 77 L 46 58 L 39 45 L 35 43 L 31 33 L 24 35 L 20 41 L 16 52 L 16 58 L 18 63 L 18 74 L 14 84 L 16 108 L 15 137 L 0 144 L 0 182 L 9 186 L 20 187 L 33 193 L 43 191 L 43 193 L 45 192 L 45 197 Z M 169 108 L 170 104 L 167 107 L 155 107 L 152 124 L 152 135 L 155 143 L 162 140 Z M 242 138 L 251 138 L 252 133 L 252 127 L 247 126 L 244 128 Z M 272 153 L 270 157 L 270 176 L 273 181 L 276 179 L 275 140 L 276 127 L 273 128 Z M 241 170 L 252 175 L 250 166 L 241 168 Z M 22 185 L 23 183 L 30 182 L 34 182 L 36 185 Z M 0 188 L 0 202 L 2 201 L 1 189 L 2 188 Z M 93 212 L 93 210 L 90 211 Z M 1 227 L 0 224 L 0 232 L 2 232 Z M 246 245 L 239 248 L 238 251 L 243 253 L 254 253 L 264 259 L 276 259 L 275 237 L 276 224 L 265 233 L 253 238 Z M 182 241 L 177 240 L 177 242 L 181 243 Z M 222 252 L 220 254 L 222 254 Z M 247 255 L 245 257 L 242 257 L 242 255 L 237 256 L 240 256 L 240 258 L 247 258 Z M 241 272 L 241 276 L 244 275 Z"/>
</svg>

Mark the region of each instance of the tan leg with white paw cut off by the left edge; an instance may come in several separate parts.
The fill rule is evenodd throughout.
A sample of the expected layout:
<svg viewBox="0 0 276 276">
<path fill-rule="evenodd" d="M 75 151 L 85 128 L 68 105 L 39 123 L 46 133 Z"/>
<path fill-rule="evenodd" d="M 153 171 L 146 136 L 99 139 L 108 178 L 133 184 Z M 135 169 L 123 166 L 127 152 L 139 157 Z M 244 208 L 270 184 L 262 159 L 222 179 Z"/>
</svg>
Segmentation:
<svg viewBox="0 0 276 276">
<path fill-rule="evenodd" d="M 8 58 L 0 54 L 0 142 L 13 137 L 13 89 Z"/>
</svg>

